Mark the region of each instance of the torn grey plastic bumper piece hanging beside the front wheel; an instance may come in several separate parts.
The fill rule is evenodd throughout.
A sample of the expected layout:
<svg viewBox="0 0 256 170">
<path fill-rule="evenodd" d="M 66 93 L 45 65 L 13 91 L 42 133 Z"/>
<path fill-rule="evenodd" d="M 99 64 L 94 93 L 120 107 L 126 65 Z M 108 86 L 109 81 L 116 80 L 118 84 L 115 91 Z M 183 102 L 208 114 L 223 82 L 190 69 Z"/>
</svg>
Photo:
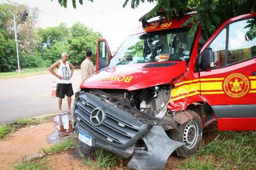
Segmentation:
<svg viewBox="0 0 256 170">
<path fill-rule="evenodd" d="M 149 133 L 142 138 L 147 149 L 135 148 L 128 163 L 131 169 L 163 169 L 172 152 L 183 143 L 170 139 L 162 126 L 153 126 Z"/>
</svg>

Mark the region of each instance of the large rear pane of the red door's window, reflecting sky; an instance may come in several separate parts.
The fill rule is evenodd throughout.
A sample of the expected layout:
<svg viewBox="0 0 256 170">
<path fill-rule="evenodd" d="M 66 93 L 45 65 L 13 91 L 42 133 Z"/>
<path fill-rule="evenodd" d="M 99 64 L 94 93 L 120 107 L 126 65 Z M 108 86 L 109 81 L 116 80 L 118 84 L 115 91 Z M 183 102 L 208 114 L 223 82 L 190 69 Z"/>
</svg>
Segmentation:
<svg viewBox="0 0 256 170">
<path fill-rule="evenodd" d="M 256 56 L 256 18 L 229 25 L 228 64 Z"/>
</svg>

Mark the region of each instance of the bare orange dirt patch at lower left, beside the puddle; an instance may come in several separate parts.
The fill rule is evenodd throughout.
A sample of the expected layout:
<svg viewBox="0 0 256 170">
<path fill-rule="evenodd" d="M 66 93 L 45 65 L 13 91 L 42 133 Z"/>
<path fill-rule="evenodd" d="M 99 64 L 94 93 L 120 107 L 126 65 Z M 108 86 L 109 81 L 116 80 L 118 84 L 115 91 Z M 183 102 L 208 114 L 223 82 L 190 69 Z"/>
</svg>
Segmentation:
<svg viewBox="0 0 256 170">
<path fill-rule="evenodd" d="M 47 122 L 31 127 L 20 129 L 0 140 L 0 169 L 12 169 L 22 156 L 50 147 L 46 135 L 55 130 L 54 123 Z"/>
</svg>

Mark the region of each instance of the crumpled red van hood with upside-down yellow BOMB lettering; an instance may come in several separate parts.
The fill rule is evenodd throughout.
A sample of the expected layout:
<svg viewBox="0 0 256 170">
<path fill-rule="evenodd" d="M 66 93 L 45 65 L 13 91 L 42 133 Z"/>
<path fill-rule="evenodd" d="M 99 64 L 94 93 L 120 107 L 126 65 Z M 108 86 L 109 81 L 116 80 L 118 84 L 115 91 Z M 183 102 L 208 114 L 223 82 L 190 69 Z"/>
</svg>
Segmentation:
<svg viewBox="0 0 256 170">
<path fill-rule="evenodd" d="M 80 88 L 131 91 L 169 83 L 185 70 L 186 62 L 183 61 L 112 66 L 84 80 Z"/>
</svg>

